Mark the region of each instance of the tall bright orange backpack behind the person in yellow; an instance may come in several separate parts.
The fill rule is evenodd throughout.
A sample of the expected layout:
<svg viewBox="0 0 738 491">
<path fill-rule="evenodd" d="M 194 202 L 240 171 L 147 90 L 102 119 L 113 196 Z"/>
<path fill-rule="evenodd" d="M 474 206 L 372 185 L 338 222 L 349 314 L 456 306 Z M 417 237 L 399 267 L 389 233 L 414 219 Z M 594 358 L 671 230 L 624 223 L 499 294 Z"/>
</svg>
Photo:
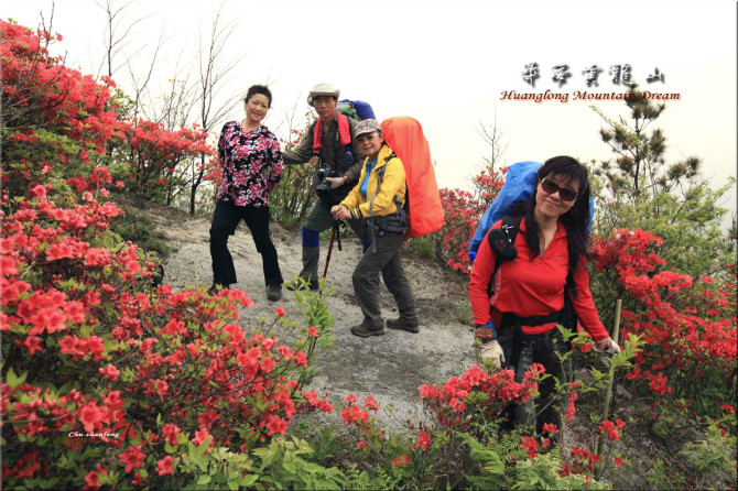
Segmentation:
<svg viewBox="0 0 738 491">
<path fill-rule="evenodd" d="M 387 145 L 405 168 L 408 239 L 415 239 L 443 227 L 444 211 L 431 161 L 431 150 L 417 120 L 402 116 L 382 121 Z"/>
</svg>

